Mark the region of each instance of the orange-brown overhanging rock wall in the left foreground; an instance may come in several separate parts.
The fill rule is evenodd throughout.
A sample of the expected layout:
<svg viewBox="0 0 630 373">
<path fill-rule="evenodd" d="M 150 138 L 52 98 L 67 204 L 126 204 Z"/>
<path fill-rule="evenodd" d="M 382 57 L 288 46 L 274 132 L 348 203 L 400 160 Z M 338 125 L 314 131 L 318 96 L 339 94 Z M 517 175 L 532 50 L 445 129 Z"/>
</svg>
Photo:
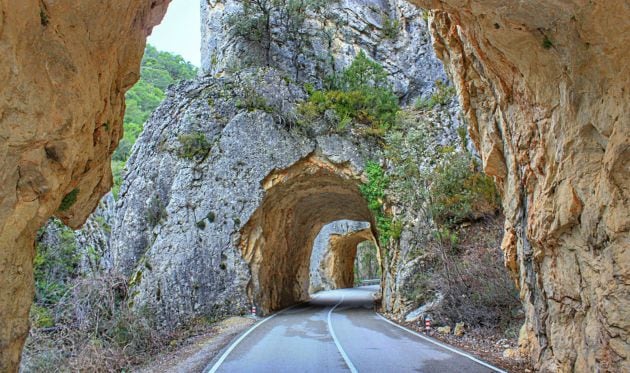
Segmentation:
<svg viewBox="0 0 630 373">
<path fill-rule="evenodd" d="M 79 227 L 109 190 L 124 93 L 168 2 L 0 1 L 0 371 L 28 334 L 37 229 Z"/>
</svg>

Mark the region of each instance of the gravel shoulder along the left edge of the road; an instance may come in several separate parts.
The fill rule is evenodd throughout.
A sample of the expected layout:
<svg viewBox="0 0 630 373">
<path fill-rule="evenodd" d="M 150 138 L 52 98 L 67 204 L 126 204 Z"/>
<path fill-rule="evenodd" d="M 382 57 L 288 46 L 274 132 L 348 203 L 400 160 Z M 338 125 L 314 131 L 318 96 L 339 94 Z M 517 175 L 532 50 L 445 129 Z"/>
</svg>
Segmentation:
<svg viewBox="0 0 630 373">
<path fill-rule="evenodd" d="M 202 372 L 225 346 L 254 322 L 251 318 L 239 316 L 220 321 L 208 332 L 189 338 L 182 343 L 182 347 L 156 356 L 153 362 L 134 372 Z"/>
</svg>

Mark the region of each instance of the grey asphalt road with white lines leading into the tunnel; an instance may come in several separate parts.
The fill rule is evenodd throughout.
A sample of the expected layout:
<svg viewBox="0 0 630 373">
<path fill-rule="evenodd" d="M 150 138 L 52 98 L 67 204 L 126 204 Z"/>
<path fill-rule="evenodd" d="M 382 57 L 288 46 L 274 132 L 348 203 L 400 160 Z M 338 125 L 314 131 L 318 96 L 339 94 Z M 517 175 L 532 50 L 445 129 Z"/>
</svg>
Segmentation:
<svg viewBox="0 0 630 373">
<path fill-rule="evenodd" d="M 501 372 L 374 312 L 378 286 L 320 292 L 255 324 L 205 372 Z"/>
</svg>

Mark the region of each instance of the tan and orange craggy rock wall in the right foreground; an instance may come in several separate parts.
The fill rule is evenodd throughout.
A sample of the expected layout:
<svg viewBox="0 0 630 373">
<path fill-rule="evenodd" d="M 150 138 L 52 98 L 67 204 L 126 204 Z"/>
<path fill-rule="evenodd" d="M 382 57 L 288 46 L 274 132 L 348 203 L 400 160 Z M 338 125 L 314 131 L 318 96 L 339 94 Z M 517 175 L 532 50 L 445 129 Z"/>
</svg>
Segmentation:
<svg viewBox="0 0 630 373">
<path fill-rule="evenodd" d="M 503 198 L 541 371 L 630 370 L 630 8 L 415 1 Z"/>
</svg>

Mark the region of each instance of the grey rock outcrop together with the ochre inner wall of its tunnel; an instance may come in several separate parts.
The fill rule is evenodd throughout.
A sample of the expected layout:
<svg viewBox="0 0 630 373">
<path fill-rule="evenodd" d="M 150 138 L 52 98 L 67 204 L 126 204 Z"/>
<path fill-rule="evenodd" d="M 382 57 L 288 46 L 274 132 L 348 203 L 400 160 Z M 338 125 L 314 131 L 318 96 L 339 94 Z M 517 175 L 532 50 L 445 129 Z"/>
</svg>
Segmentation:
<svg viewBox="0 0 630 373">
<path fill-rule="evenodd" d="M 308 296 L 323 225 L 370 221 L 357 183 L 378 147 L 290 129 L 302 97 L 272 69 L 169 92 L 129 159 L 112 234 L 114 266 L 131 276 L 135 304 L 169 325 L 251 302 L 280 308 Z M 187 148 L 190 138 L 198 148 Z"/>
</svg>

